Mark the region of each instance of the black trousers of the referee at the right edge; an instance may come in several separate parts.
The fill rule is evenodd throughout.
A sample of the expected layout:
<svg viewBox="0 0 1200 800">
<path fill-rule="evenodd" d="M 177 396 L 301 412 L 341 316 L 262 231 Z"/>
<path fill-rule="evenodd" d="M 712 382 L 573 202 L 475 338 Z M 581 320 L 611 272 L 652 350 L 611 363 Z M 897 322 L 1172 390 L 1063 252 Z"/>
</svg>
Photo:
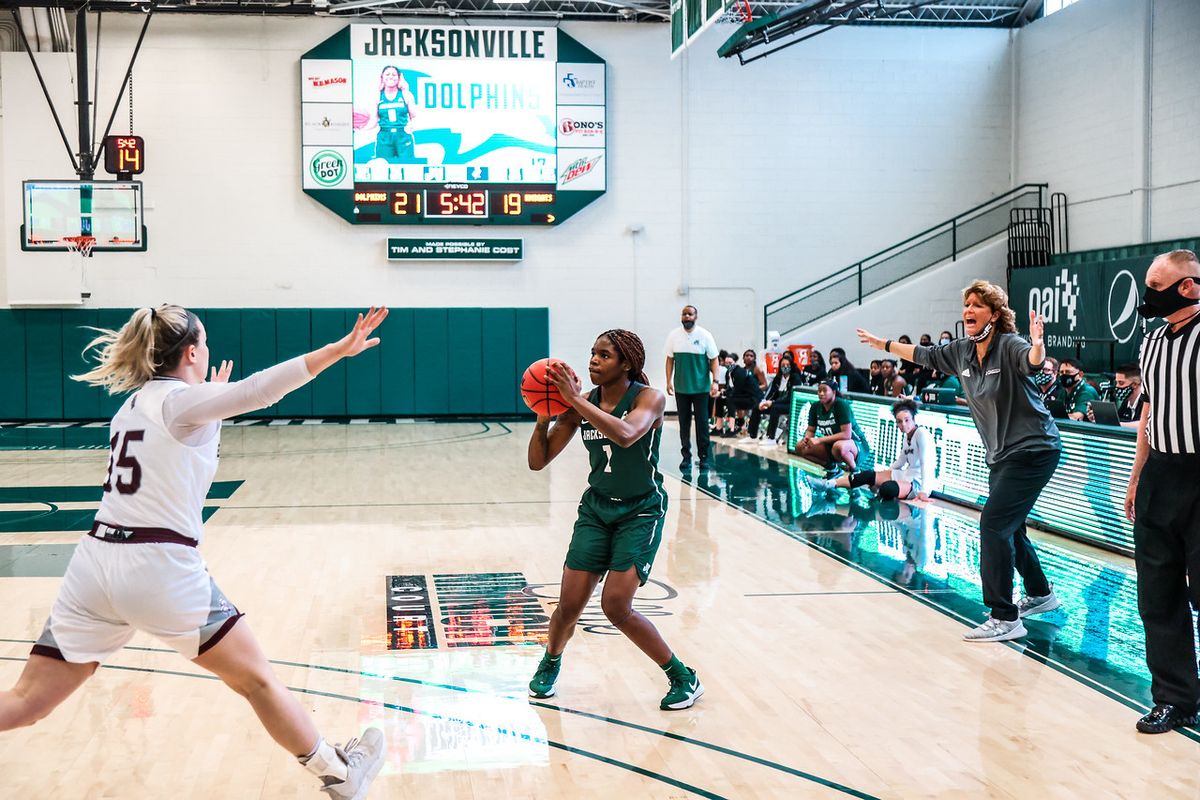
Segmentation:
<svg viewBox="0 0 1200 800">
<path fill-rule="evenodd" d="M 1134 498 L 1138 613 L 1154 703 L 1200 700 L 1192 608 L 1200 608 L 1200 456 L 1150 452 Z"/>
</svg>

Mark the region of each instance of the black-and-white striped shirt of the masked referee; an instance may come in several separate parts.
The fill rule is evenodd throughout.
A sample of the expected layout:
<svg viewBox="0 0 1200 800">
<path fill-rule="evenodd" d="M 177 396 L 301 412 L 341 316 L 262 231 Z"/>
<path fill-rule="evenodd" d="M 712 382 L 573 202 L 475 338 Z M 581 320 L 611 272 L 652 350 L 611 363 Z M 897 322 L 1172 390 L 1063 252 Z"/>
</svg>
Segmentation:
<svg viewBox="0 0 1200 800">
<path fill-rule="evenodd" d="M 1163 325 L 1141 343 L 1142 393 L 1150 403 L 1150 449 L 1200 453 L 1200 317 L 1172 331 Z"/>
</svg>

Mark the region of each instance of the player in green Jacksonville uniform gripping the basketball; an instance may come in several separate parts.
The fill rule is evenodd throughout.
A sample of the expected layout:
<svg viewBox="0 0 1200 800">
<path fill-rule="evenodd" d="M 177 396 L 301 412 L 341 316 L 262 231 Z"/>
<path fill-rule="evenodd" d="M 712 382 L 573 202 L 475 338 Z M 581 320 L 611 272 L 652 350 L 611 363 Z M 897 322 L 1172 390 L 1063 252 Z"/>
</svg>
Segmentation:
<svg viewBox="0 0 1200 800">
<path fill-rule="evenodd" d="M 696 670 L 684 666 L 658 628 L 634 610 L 634 593 L 649 578 L 667 512 L 659 473 L 666 397 L 647 385 L 644 366 L 646 348 L 637 335 L 612 330 L 592 345 L 588 375 L 596 389 L 590 393 L 582 395 L 566 365 L 553 365 L 547 373 L 571 409 L 553 427 L 550 417 L 538 417 L 529 439 L 529 469 L 545 468 L 580 431 L 592 471 L 566 551 L 546 654 L 529 681 L 530 697 L 554 693 L 563 650 L 600 581 L 605 581 L 600 596 L 605 616 L 671 681 L 659 708 L 685 709 L 704 693 Z"/>
</svg>

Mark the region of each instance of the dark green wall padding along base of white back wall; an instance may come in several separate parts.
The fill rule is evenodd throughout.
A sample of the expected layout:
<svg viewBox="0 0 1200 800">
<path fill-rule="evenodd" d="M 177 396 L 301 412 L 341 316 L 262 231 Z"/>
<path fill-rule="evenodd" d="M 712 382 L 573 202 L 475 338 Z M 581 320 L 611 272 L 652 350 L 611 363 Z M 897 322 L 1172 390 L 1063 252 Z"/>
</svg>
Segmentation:
<svg viewBox="0 0 1200 800">
<path fill-rule="evenodd" d="M 334 342 L 360 309 L 198 308 L 210 360 L 233 380 Z M 116 330 L 132 309 L 0 308 L 0 420 L 103 420 L 125 401 L 70 375 L 88 369 L 90 327 Z M 524 414 L 520 371 L 550 351 L 547 308 L 392 308 L 379 347 L 326 369 L 254 416 Z"/>
</svg>

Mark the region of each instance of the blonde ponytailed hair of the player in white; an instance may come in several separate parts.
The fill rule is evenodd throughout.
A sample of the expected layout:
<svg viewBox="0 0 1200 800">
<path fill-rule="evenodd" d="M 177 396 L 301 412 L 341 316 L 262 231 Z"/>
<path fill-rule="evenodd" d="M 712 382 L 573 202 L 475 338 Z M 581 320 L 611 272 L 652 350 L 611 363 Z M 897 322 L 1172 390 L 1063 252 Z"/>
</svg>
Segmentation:
<svg viewBox="0 0 1200 800">
<path fill-rule="evenodd" d="M 164 371 L 174 369 L 184 348 L 199 341 L 199 319 L 179 306 L 138 308 L 119 331 L 92 329 L 100 333 L 84 348 L 84 357 L 95 353 L 96 366 L 82 375 L 71 375 L 109 395 L 132 392 Z"/>
</svg>

